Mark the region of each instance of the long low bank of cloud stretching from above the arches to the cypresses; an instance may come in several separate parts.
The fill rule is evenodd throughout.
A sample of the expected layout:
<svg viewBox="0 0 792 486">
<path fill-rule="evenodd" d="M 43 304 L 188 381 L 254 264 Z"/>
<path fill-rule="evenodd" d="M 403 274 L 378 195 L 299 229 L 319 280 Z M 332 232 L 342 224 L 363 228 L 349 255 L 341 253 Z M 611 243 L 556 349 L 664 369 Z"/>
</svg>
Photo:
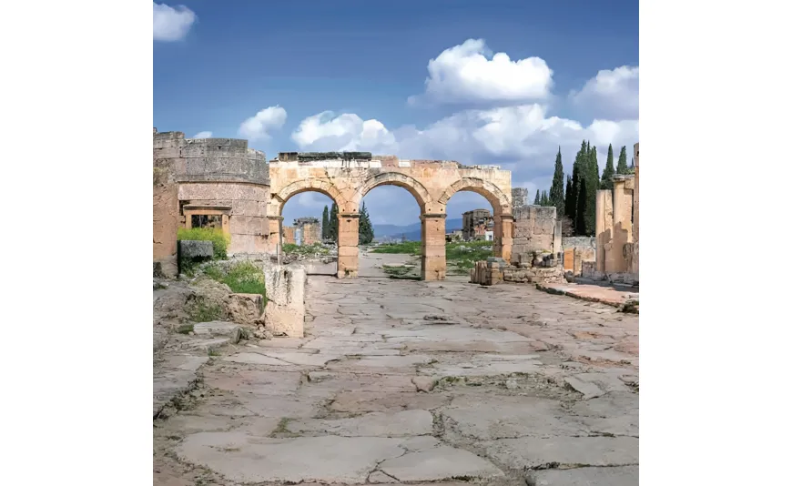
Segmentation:
<svg viewBox="0 0 792 486">
<path fill-rule="evenodd" d="M 608 144 L 618 153 L 621 146 L 632 147 L 637 141 L 638 121 L 596 119 L 584 126 L 572 119 L 548 116 L 546 106 L 531 104 L 464 110 L 423 129 L 399 127 L 391 131 L 378 120 L 364 122 L 354 114 L 333 117 L 324 112 L 304 119 L 292 138 L 303 149 L 366 150 L 403 158 L 498 164 L 512 171 L 514 187 L 535 191 L 551 180 L 559 147 L 566 172 L 571 173 L 581 141 L 590 140 L 597 147 L 602 169 Z"/>
</svg>

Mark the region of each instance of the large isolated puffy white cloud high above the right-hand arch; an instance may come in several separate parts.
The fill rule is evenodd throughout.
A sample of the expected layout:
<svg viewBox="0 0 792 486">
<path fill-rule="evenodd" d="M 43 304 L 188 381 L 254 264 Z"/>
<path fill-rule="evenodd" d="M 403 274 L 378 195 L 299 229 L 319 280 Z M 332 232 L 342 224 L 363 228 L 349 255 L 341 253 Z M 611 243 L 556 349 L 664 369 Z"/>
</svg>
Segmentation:
<svg viewBox="0 0 792 486">
<path fill-rule="evenodd" d="M 433 103 L 524 101 L 550 96 L 553 71 L 540 57 L 513 61 L 506 53 L 490 56 L 482 39 L 468 39 L 429 61 L 421 99 Z"/>
</svg>

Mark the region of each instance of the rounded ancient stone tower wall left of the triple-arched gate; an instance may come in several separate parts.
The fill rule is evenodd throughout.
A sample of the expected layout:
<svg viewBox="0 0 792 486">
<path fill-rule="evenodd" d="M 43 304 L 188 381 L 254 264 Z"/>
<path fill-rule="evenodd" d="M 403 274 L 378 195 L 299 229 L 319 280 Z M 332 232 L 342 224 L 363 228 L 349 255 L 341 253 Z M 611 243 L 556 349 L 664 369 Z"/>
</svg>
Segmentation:
<svg viewBox="0 0 792 486">
<path fill-rule="evenodd" d="M 186 215 L 222 215 L 230 236 L 229 254 L 269 250 L 269 166 L 247 140 L 187 138 L 179 146 L 177 173 L 182 224 Z"/>
</svg>

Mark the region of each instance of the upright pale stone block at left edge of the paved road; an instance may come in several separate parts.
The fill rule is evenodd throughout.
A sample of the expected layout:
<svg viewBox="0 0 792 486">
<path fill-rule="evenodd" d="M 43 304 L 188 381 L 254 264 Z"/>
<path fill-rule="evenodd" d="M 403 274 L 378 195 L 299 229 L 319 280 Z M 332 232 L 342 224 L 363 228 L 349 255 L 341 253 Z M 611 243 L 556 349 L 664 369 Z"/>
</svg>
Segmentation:
<svg viewBox="0 0 792 486">
<path fill-rule="evenodd" d="M 276 336 L 302 338 L 305 325 L 305 268 L 276 265 L 264 269 L 267 306 L 264 327 Z"/>
</svg>

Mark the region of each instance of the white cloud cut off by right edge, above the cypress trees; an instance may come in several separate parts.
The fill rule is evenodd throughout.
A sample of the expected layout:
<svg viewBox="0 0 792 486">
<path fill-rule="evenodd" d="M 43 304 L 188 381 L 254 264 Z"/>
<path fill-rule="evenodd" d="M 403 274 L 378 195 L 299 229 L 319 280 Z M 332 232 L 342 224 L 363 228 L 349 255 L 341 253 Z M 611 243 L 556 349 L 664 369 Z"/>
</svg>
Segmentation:
<svg viewBox="0 0 792 486">
<path fill-rule="evenodd" d="M 569 97 L 574 106 L 592 111 L 595 116 L 637 118 L 638 66 L 604 69 Z"/>
</svg>

